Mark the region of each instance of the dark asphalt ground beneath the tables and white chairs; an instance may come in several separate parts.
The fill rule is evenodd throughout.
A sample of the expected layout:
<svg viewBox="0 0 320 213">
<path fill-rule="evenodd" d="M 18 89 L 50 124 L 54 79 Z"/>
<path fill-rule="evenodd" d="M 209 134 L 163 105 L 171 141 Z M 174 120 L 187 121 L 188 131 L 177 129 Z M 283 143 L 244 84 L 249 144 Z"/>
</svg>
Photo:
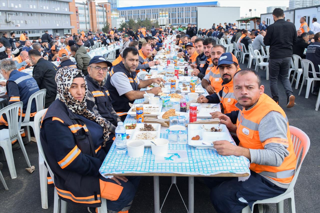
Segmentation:
<svg viewBox="0 0 320 213">
<path fill-rule="evenodd" d="M 241 64 L 240 67 L 244 68 L 246 65 L 246 63 L 244 65 Z M 259 73 L 262 77 L 262 83 L 265 85 L 265 93 L 270 96 L 269 82 L 266 81 L 266 72 L 259 70 Z M 300 96 L 298 96 L 299 90 L 293 88 L 296 104 L 293 108 L 287 109 L 285 92 L 280 82 L 278 83 L 278 90 L 280 98 L 279 104 L 284 109 L 289 119 L 289 124 L 303 130 L 311 141 L 309 152 L 302 164 L 298 180 L 294 187 L 296 212 L 318 213 L 320 212 L 320 141 L 318 137 L 320 130 L 320 111 L 315 110 L 317 96 L 310 93 L 309 98 L 305 99 L 305 87 Z M 11 179 L 7 163 L 4 162 L 2 153 L 0 154 L 0 161 L 4 164 L 1 172 L 9 187 L 9 190 L 5 191 L 4 186 L 0 184 L 1 213 L 48 213 L 53 211 L 53 187 L 48 187 L 49 209 L 41 208 L 38 150 L 36 143 L 31 142 L 28 144 L 26 150 L 31 165 L 34 165 L 36 170 L 32 174 L 29 174 L 25 170 L 27 163 L 21 149 L 13 151 L 17 171 L 17 178 L 15 179 Z M 170 184 L 171 177 L 160 177 L 161 204 Z M 188 178 L 177 177 L 177 185 L 188 207 Z M 206 185 L 195 181 L 195 212 L 216 212 L 210 202 L 209 192 Z M 276 212 L 276 204 L 269 205 L 271 212 Z M 82 213 L 87 212 L 87 209 L 74 204 L 68 204 L 67 212 Z M 130 212 L 154 212 L 153 177 L 142 177 Z M 175 187 L 172 187 L 168 194 L 168 198 L 161 212 L 187 212 Z M 287 200 L 284 201 L 284 212 L 289 212 Z"/>
</svg>

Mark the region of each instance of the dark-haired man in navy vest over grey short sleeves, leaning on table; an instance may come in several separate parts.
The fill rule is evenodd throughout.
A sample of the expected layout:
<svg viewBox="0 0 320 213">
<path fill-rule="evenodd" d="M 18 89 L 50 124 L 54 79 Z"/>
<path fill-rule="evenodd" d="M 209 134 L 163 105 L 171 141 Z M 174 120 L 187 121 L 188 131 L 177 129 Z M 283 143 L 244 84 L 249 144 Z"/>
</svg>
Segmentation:
<svg viewBox="0 0 320 213">
<path fill-rule="evenodd" d="M 113 67 L 107 78 L 107 87 L 112 100 L 112 106 L 116 113 L 124 121 L 127 112 L 135 99 L 142 99 L 145 91 L 139 91 L 152 83 L 165 81 L 162 78 L 140 80 L 135 72 L 139 65 L 139 52 L 135 47 L 127 47 L 122 53 L 122 61 Z M 154 87 L 147 91 L 158 95 L 161 87 Z"/>
</svg>

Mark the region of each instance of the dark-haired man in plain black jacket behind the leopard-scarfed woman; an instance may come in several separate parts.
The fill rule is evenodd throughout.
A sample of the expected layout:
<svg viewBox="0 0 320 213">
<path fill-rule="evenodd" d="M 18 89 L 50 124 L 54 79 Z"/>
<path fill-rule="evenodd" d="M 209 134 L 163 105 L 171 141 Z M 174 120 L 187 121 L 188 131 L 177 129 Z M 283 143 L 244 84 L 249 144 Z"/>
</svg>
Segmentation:
<svg viewBox="0 0 320 213">
<path fill-rule="evenodd" d="M 44 108 L 48 108 L 57 96 L 57 83 L 55 81 L 57 67 L 52 62 L 42 58 L 38 50 L 30 50 L 28 53 L 31 63 L 35 65 L 32 71 L 33 78 L 40 90 L 47 90 Z"/>
</svg>

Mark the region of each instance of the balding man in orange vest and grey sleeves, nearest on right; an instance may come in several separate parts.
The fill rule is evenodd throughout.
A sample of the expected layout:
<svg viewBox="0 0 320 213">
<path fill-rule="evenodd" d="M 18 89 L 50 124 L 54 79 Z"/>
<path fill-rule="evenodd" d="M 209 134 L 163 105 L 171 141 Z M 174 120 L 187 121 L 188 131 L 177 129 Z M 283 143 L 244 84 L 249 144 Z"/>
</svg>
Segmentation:
<svg viewBox="0 0 320 213">
<path fill-rule="evenodd" d="M 239 181 L 234 177 L 205 178 L 211 189 L 210 198 L 218 212 L 238 212 L 257 200 L 283 194 L 296 169 L 296 155 L 283 109 L 264 94 L 259 74 L 252 69 L 234 76 L 234 96 L 239 107 L 236 125 L 227 115 L 220 121 L 240 140 L 234 146 L 227 140 L 214 141 L 220 155 L 244 156 L 250 161 L 250 177 Z M 253 212 L 269 212 L 269 206 L 255 205 Z M 262 207 L 262 208 L 261 208 Z M 257 209 L 256 209 L 257 208 Z M 259 211 L 263 209 L 263 211 Z"/>
</svg>

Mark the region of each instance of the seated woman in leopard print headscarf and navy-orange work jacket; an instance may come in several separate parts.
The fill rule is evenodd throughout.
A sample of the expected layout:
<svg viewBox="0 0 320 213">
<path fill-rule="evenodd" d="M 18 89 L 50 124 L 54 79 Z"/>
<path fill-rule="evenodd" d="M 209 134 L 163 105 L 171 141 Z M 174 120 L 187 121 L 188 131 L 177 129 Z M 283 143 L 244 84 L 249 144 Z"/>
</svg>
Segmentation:
<svg viewBox="0 0 320 213">
<path fill-rule="evenodd" d="M 61 67 L 55 79 L 59 99 L 44 114 L 40 133 L 54 174 L 51 183 L 62 200 L 91 212 L 101 205 L 100 197 L 107 199 L 108 213 L 127 212 L 140 177 L 100 175 L 108 153 L 107 124 L 86 107 L 87 84 L 81 70 Z"/>
</svg>

